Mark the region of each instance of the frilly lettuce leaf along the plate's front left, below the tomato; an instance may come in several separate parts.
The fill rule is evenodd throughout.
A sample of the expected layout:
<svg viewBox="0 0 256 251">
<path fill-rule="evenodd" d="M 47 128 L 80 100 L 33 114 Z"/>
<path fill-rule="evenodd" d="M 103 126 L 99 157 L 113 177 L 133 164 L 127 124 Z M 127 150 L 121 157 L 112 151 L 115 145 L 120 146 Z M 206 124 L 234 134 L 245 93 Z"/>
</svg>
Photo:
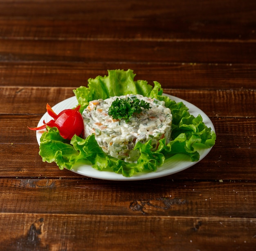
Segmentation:
<svg viewBox="0 0 256 251">
<path fill-rule="evenodd" d="M 43 161 L 48 163 L 56 162 L 58 167 L 72 169 L 78 161 L 83 161 L 86 164 L 91 164 L 97 170 L 114 171 L 125 177 L 131 177 L 135 173 L 142 172 L 144 168 L 155 170 L 150 162 L 154 162 L 157 166 L 161 166 L 164 162 L 164 155 L 157 152 L 150 152 L 152 146 L 147 143 L 141 149 L 140 164 L 128 163 L 121 159 L 116 159 L 107 155 L 95 140 L 95 135 L 92 134 L 86 139 L 74 135 L 71 141 L 63 139 L 59 135 L 57 128 L 47 128 L 40 139 L 39 154 Z M 140 143 L 140 142 L 138 142 Z M 139 148 L 136 146 L 137 148 Z M 163 147 L 162 147 L 163 148 Z M 159 149 L 158 149 L 159 150 Z M 146 158 L 145 156 L 150 156 Z M 159 160 L 154 159 L 160 156 Z M 146 167 L 145 167 L 146 166 Z"/>
</svg>

